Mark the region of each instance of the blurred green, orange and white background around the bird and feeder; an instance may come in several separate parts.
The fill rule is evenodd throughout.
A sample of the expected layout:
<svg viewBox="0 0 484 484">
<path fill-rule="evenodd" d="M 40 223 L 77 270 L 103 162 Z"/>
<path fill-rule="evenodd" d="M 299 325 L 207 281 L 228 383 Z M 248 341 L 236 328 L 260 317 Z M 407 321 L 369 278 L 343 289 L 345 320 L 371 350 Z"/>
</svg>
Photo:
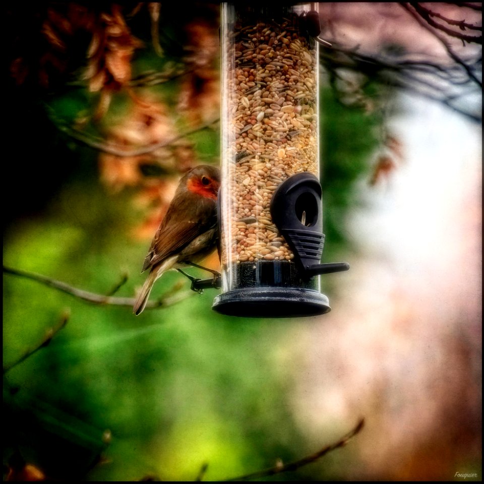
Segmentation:
<svg viewBox="0 0 484 484">
<path fill-rule="evenodd" d="M 361 418 L 266 479 L 481 480 L 481 4 L 319 4 L 329 314 L 222 316 L 173 271 L 135 317 L 220 163 L 219 9 L 6 8 L 4 480 L 237 478 Z"/>
</svg>

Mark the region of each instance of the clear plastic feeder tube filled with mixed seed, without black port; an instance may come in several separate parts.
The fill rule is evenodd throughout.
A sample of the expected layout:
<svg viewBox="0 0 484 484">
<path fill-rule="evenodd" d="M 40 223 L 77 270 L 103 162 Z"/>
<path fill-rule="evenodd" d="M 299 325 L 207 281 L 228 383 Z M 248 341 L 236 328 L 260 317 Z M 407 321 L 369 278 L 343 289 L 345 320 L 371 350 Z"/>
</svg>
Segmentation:
<svg viewBox="0 0 484 484">
<path fill-rule="evenodd" d="M 317 6 L 222 4 L 224 293 L 319 291 L 319 276 L 299 276 L 270 213 L 274 191 L 289 176 L 308 171 L 319 178 L 319 46 L 307 15 Z"/>
</svg>

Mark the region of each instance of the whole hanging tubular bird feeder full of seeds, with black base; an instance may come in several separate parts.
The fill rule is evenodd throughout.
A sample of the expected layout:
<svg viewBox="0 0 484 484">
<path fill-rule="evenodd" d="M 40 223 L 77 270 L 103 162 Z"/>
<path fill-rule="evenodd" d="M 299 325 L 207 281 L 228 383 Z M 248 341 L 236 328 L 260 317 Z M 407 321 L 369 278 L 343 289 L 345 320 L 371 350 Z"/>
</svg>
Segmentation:
<svg viewBox="0 0 484 484">
<path fill-rule="evenodd" d="M 331 310 L 320 275 L 318 4 L 222 4 L 222 292 L 244 317 Z"/>
</svg>

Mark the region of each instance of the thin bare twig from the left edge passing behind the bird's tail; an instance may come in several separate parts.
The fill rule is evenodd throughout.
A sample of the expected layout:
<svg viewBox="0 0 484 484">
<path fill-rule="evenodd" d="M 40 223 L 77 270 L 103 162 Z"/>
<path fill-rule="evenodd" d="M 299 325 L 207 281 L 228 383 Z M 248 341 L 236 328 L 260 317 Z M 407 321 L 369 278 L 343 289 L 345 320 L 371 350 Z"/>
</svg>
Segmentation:
<svg viewBox="0 0 484 484">
<path fill-rule="evenodd" d="M 129 306 L 129 307 L 133 307 L 133 305 L 135 304 L 136 299 L 134 297 L 113 297 L 113 296 L 104 295 L 104 294 L 95 294 L 94 292 L 85 291 L 83 289 L 79 289 L 77 287 L 66 284 L 65 282 L 58 281 L 56 279 L 52 279 L 50 277 L 47 277 L 41 274 L 35 274 L 34 272 L 22 271 L 20 269 L 12 269 L 5 266 L 3 266 L 3 268 L 4 268 L 4 272 L 6 272 L 7 274 L 13 274 L 16 276 L 32 279 L 34 281 L 40 282 L 41 284 L 44 284 L 49 287 L 53 287 L 54 289 L 65 292 L 67 294 L 71 294 L 74 297 L 77 297 L 87 302 L 92 302 L 94 304 Z M 169 289 L 165 294 L 160 296 L 156 301 L 148 301 L 146 305 L 146 309 L 159 308 L 160 306 L 163 306 L 163 307 L 171 306 L 176 302 L 182 299 L 185 299 L 186 297 L 194 293 L 193 291 L 184 291 L 184 292 L 180 292 L 177 296 L 171 296 L 171 294 L 178 292 L 180 288 L 181 286 L 178 286 L 175 284 L 171 289 Z"/>
</svg>

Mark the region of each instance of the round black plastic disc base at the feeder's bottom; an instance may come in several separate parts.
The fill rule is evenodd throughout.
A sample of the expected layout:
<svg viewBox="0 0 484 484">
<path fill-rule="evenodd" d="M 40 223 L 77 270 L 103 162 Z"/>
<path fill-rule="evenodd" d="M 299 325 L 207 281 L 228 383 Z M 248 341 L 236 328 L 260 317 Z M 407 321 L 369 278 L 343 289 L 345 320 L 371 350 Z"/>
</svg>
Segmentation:
<svg viewBox="0 0 484 484">
<path fill-rule="evenodd" d="M 216 296 L 212 309 L 245 318 L 299 318 L 331 311 L 324 294 L 294 287 L 235 289 Z"/>
</svg>

